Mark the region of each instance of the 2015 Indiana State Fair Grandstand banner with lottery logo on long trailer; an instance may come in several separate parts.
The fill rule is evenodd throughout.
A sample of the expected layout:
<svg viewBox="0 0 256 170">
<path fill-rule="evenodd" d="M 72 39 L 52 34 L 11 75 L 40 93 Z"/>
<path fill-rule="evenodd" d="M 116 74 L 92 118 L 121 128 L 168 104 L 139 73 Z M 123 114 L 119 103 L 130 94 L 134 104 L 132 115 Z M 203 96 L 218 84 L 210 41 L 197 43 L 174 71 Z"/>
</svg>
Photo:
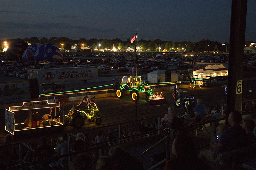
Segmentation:
<svg viewBox="0 0 256 170">
<path fill-rule="evenodd" d="M 75 67 L 28 70 L 28 78 L 37 78 L 38 84 L 82 81 L 98 78 L 98 67 Z"/>
</svg>

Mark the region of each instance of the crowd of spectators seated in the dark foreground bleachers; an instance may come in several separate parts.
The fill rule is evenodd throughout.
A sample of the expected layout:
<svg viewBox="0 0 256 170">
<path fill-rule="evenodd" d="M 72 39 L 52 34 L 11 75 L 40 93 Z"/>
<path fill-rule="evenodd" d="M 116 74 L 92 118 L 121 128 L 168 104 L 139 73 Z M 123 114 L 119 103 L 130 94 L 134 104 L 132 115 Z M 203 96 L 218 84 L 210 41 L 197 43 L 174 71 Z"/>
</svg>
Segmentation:
<svg viewBox="0 0 256 170">
<path fill-rule="evenodd" d="M 168 113 L 161 120 L 161 126 L 164 126 L 165 122 L 172 124 L 174 118 L 182 118 L 183 125 L 190 125 L 192 123 L 200 122 L 204 115 L 211 114 L 212 118 L 220 117 L 219 107 L 207 108 L 203 104 L 201 99 L 196 101 L 197 105 L 187 106 L 187 111 L 183 115 L 175 113 L 173 107 L 168 107 Z M 248 103 L 247 103 L 248 104 Z M 247 105 L 248 109 L 248 105 Z M 197 155 L 195 144 L 188 134 L 178 134 L 173 140 L 172 153 L 173 157 L 165 164 L 164 170 L 170 169 L 211 169 L 206 162 L 215 162 L 221 154 L 244 147 L 246 145 L 256 143 L 256 127 L 255 122 L 252 119 L 245 119 L 242 122 L 242 114 L 239 111 L 232 111 L 228 115 L 228 124 L 220 125 L 217 128 L 217 134 L 214 142 L 210 143 L 209 149 L 203 149 Z M 148 132 L 158 129 L 158 121 L 141 123 L 139 130 L 142 132 Z M 123 136 L 127 136 L 126 129 L 122 132 Z M 50 141 L 46 137 L 40 138 L 40 144 L 36 144 L 35 141 L 28 142 L 27 145 L 36 151 L 36 154 L 24 147 L 23 155 L 19 155 L 17 149 L 15 150 L 9 144 L 12 143 L 12 135 L 7 134 L 5 141 L 0 144 L 0 156 L 2 158 L 2 167 L 12 166 L 15 160 L 21 156 L 24 161 L 30 162 L 35 160 L 42 160 L 50 158 L 52 156 L 59 156 L 68 153 L 68 142 L 70 149 L 74 151 L 87 149 L 89 144 L 93 142 L 100 144 L 108 140 L 118 138 L 116 129 L 108 127 L 108 133 L 105 134 L 102 130 L 98 130 L 97 136 L 94 139 L 89 137 L 88 133 L 77 133 L 77 137 L 70 136 L 64 133 L 61 137 L 52 138 Z M 7 146 L 5 146 L 7 145 Z M 5 147 L 4 147 L 5 146 Z M 103 156 L 98 156 L 97 153 L 92 154 L 83 153 L 76 155 L 74 160 L 75 169 L 88 169 L 92 170 L 142 170 L 142 163 L 135 158 L 132 154 L 125 152 L 125 150 L 119 146 L 113 147 L 109 150 L 102 152 Z M 41 166 L 48 166 L 48 163 L 44 162 Z M 58 160 L 57 165 L 67 165 L 67 158 L 61 158 Z M 229 160 L 221 160 L 220 164 L 223 166 L 229 165 Z"/>
</svg>

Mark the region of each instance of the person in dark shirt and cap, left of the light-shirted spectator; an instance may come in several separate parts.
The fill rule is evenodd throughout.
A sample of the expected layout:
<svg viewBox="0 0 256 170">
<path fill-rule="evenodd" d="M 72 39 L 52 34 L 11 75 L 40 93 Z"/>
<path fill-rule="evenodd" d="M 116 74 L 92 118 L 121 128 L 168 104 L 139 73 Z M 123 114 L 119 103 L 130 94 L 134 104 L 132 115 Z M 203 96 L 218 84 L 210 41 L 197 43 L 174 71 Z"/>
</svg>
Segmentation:
<svg viewBox="0 0 256 170">
<path fill-rule="evenodd" d="M 53 149 L 47 144 L 47 138 L 41 137 L 41 145 L 36 149 L 36 160 L 49 158 L 53 155 Z"/>
</svg>

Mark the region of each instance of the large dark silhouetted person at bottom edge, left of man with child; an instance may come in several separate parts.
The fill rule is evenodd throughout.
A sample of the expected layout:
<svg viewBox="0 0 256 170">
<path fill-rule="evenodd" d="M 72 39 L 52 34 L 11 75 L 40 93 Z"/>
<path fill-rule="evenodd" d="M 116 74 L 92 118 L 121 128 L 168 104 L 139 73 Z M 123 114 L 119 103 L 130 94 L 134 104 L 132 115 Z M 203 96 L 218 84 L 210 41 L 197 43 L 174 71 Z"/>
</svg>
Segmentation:
<svg viewBox="0 0 256 170">
<path fill-rule="evenodd" d="M 178 134 L 172 143 L 173 157 L 166 161 L 164 170 L 203 170 L 208 166 L 197 158 L 196 146 L 190 136 Z"/>
</svg>

